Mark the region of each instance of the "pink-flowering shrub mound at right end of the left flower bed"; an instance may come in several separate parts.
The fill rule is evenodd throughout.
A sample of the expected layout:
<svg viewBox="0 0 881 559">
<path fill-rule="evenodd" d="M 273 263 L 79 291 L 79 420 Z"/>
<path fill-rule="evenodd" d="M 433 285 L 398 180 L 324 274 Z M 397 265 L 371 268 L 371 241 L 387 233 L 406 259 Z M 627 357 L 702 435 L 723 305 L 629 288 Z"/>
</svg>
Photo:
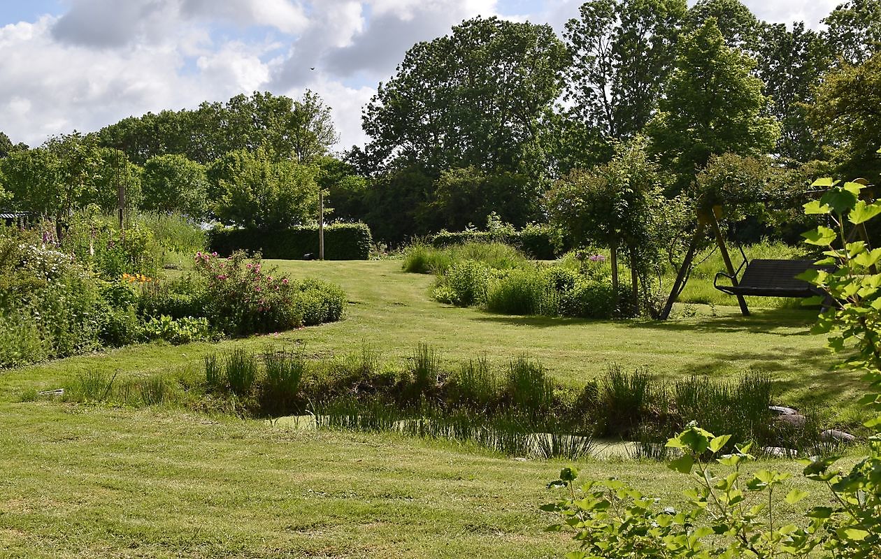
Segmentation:
<svg viewBox="0 0 881 559">
<path fill-rule="evenodd" d="M 295 281 L 242 251 L 226 261 L 196 253 L 196 272 L 207 283 L 206 315 L 228 335 L 278 332 L 339 320 L 345 295 L 336 285 Z"/>
</svg>

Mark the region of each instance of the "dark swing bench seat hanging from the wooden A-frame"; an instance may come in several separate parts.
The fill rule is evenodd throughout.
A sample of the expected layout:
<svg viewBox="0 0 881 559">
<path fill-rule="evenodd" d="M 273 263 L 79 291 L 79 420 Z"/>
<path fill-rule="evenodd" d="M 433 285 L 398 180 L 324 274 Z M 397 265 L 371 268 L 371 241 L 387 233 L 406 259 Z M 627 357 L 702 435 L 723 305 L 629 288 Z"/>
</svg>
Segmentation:
<svg viewBox="0 0 881 559">
<path fill-rule="evenodd" d="M 763 260 L 744 261 L 746 269 L 737 285 L 720 285 L 719 277 L 727 277 L 734 283 L 737 276 L 719 272 L 713 279 L 713 287 L 729 295 L 750 297 L 797 297 L 807 298 L 824 295 L 823 291 L 796 276 L 808 269 L 826 269 L 810 260 Z M 744 265 L 741 264 L 741 268 Z M 740 268 L 737 269 L 740 271 Z"/>
</svg>

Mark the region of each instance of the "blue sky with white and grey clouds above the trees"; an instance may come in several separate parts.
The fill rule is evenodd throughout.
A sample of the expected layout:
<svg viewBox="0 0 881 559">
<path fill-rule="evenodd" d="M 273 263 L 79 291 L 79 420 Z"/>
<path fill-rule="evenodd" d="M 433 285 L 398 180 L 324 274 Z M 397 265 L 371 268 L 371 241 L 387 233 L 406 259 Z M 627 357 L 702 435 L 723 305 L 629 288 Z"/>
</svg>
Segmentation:
<svg viewBox="0 0 881 559">
<path fill-rule="evenodd" d="M 478 15 L 561 34 L 582 1 L 0 0 L 0 131 L 35 147 L 150 111 L 310 89 L 331 107 L 343 151 L 366 142 L 361 107 L 416 42 Z M 744 4 L 817 27 L 841 1 Z"/>
</svg>

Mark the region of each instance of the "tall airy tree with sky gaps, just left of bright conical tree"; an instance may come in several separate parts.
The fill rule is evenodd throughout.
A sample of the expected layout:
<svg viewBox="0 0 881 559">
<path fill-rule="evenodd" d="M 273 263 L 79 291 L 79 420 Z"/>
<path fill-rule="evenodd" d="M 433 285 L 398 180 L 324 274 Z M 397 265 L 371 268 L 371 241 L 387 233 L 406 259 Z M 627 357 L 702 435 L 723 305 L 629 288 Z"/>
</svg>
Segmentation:
<svg viewBox="0 0 881 559">
<path fill-rule="evenodd" d="M 591 0 L 566 23 L 573 55 L 566 116 L 607 140 L 635 136 L 655 111 L 676 58 L 685 0 Z"/>
</svg>

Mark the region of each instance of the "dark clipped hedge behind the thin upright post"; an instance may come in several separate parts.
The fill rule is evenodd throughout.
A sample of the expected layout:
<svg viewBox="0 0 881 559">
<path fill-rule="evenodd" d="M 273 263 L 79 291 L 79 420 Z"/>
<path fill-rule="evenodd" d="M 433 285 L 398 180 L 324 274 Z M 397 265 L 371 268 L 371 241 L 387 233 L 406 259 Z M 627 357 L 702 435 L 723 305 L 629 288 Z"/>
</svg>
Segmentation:
<svg viewBox="0 0 881 559">
<path fill-rule="evenodd" d="M 263 258 L 303 260 L 318 258 L 318 226 L 302 225 L 280 232 L 217 229 L 209 235 L 211 251 L 229 256 L 235 250 L 260 251 Z M 367 260 L 374 244 L 366 224 L 329 224 L 324 227 L 325 260 Z"/>
</svg>

